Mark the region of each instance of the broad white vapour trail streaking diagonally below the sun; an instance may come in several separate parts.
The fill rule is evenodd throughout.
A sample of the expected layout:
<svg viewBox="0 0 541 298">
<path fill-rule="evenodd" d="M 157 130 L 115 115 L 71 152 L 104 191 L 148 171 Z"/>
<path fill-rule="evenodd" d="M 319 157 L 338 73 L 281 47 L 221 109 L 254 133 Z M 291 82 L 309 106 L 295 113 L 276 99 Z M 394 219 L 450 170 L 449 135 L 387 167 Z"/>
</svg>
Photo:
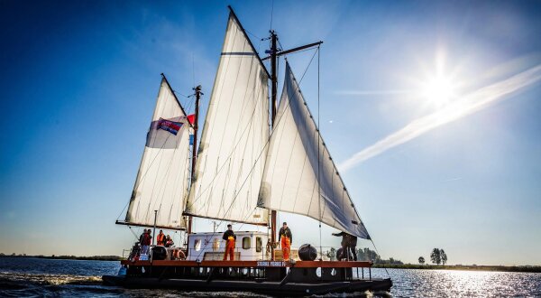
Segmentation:
<svg viewBox="0 0 541 298">
<path fill-rule="evenodd" d="M 386 136 L 380 141 L 353 154 L 338 167 L 346 171 L 358 163 L 362 163 L 374 156 L 382 154 L 399 144 L 404 144 L 419 135 L 423 135 L 432 129 L 443 126 L 449 122 L 458 120 L 463 116 L 480 111 L 485 107 L 505 98 L 509 98 L 519 91 L 535 84 L 541 79 L 541 64 L 525 70 L 497 83 L 480 88 L 430 115 L 422 116 L 402 127 L 395 133 Z"/>
</svg>

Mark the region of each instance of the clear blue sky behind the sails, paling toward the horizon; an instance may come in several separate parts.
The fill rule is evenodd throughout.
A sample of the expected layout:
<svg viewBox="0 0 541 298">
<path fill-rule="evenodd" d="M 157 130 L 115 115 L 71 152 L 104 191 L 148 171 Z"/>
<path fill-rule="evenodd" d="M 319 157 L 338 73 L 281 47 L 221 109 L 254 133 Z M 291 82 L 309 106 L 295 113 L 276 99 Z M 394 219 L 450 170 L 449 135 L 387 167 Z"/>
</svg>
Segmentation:
<svg viewBox="0 0 541 298">
<path fill-rule="evenodd" d="M 263 52 L 271 1 L 0 4 L 0 252 L 119 255 L 131 246 L 132 233 L 114 222 L 160 73 L 179 94 L 201 84 L 206 112 L 227 5 Z M 438 71 L 460 99 L 538 66 L 540 12 L 534 1 L 275 1 L 272 27 L 285 48 L 325 42 L 321 131 L 344 163 L 447 104 L 423 93 Z M 311 55 L 289 56 L 298 77 Z M 301 84 L 315 113 L 316 78 L 312 64 Z M 342 171 L 383 257 L 415 263 L 442 247 L 451 264 L 541 265 L 540 86 Z M 319 242 L 316 222 L 282 219 Z"/>
</svg>

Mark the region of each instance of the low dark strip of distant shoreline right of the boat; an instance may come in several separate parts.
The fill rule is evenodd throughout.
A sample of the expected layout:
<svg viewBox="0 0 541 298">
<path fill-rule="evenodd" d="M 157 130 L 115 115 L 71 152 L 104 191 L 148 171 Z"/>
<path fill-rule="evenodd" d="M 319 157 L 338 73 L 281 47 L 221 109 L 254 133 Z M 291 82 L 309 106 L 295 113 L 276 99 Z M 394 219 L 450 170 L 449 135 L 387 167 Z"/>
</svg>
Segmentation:
<svg viewBox="0 0 541 298">
<path fill-rule="evenodd" d="M 372 268 L 392 269 L 428 269 L 428 270 L 468 270 L 468 271 L 500 271 L 541 273 L 539 265 L 372 265 Z"/>
</svg>

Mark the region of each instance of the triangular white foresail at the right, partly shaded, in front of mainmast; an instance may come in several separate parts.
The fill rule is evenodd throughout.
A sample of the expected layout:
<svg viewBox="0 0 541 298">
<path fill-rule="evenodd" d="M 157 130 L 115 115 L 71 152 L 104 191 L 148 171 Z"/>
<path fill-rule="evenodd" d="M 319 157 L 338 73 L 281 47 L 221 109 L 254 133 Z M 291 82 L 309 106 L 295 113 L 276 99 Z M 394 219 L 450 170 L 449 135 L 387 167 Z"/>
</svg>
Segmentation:
<svg viewBox="0 0 541 298">
<path fill-rule="evenodd" d="M 289 63 L 268 153 L 259 207 L 306 215 L 354 236 L 369 238 Z"/>
</svg>

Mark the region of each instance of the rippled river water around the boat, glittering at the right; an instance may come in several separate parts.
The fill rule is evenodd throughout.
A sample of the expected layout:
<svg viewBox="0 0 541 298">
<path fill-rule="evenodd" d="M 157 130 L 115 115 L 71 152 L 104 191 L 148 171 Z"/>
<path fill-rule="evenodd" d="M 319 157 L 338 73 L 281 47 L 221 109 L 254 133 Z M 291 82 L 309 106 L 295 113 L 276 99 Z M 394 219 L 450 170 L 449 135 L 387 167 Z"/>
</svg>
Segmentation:
<svg viewBox="0 0 541 298">
<path fill-rule="evenodd" d="M 254 293 L 197 293 L 178 290 L 133 290 L 101 283 L 101 275 L 116 275 L 119 262 L 0 257 L 0 297 L 265 297 Z M 388 269 L 391 297 L 541 297 L 541 274 L 452 270 Z M 372 277 L 387 277 L 372 269 Z M 358 294 L 357 294 L 358 295 Z M 335 294 L 328 297 L 343 297 Z M 351 296 L 351 295 L 349 295 Z"/>
</svg>

